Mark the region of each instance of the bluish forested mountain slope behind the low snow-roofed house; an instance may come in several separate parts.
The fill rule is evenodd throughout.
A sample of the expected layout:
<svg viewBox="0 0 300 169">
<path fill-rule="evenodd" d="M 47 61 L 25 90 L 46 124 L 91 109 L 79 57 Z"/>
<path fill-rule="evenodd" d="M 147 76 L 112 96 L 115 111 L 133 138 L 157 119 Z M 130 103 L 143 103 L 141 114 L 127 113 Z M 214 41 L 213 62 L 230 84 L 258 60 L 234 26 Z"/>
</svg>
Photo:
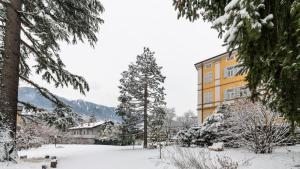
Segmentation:
<svg viewBox="0 0 300 169">
<path fill-rule="evenodd" d="M 53 110 L 52 103 L 47 100 L 44 96 L 30 87 L 19 88 L 19 100 L 23 102 L 29 102 L 37 107 L 46 109 L 48 111 Z M 74 112 L 79 113 L 83 117 L 89 117 L 95 114 L 98 120 L 114 120 L 120 121 L 120 117 L 116 115 L 114 107 L 107 107 L 103 105 L 98 105 L 92 102 L 87 102 L 83 100 L 68 100 L 66 98 L 58 96 L 64 103 L 70 105 Z"/>
</svg>

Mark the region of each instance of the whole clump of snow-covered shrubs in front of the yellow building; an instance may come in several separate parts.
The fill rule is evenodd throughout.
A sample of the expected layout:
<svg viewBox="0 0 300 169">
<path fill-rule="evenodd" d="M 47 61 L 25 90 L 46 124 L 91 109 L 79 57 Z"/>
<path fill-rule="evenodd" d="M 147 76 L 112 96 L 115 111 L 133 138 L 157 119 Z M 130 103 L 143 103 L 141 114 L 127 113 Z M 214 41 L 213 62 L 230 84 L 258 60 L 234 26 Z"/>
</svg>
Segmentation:
<svg viewBox="0 0 300 169">
<path fill-rule="evenodd" d="M 222 105 L 207 117 L 201 127 L 177 134 L 183 146 L 211 146 L 222 142 L 225 147 L 246 147 L 255 153 L 271 153 L 273 148 L 290 141 L 290 125 L 279 113 L 248 99 Z"/>
</svg>

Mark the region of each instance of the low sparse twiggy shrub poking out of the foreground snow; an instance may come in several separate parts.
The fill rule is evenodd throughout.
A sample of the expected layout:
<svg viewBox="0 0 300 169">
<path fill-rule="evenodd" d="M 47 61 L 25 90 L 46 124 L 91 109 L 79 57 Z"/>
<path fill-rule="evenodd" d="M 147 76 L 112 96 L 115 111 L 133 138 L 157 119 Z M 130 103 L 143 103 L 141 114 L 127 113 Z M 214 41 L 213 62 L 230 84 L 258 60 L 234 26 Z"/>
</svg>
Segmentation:
<svg viewBox="0 0 300 169">
<path fill-rule="evenodd" d="M 212 158 L 206 149 L 186 149 L 176 147 L 169 152 L 171 164 L 178 169 L 237 169 L 238 163 L 229 157 Z"/>
</svg>

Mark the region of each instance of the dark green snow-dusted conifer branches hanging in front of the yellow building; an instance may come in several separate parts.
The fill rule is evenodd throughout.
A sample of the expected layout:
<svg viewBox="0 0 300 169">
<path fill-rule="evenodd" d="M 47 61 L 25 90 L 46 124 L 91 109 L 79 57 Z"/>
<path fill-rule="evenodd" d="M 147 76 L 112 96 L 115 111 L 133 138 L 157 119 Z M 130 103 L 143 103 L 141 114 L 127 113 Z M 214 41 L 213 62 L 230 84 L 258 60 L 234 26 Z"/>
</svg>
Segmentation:
<svg viewBox="0 0 300 169">
<path fill-rule="evenodd" d="M 178 17 L 202 16 L 224 35 L 253 100 L 261 99 L 294 124 L 300 122 L 299 0 L 173 0 Z M 293 125 L 294 126 L 294 125 Z"/>
</svg>

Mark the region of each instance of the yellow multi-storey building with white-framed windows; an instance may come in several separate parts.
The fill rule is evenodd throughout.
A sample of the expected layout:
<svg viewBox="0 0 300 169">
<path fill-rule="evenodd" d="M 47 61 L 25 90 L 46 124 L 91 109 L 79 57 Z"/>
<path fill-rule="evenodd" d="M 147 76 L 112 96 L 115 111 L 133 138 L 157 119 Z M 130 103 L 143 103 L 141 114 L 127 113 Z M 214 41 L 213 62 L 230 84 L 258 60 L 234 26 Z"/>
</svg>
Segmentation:
<svg viewBox="0 0 300 169">
<path fill-rule="evenodd" d="M 244 75 L 237 75 L 237 52 L 214 56 L 195 64 L 198 71 L 198 117 L 202 124 L 217 106 L 249 95 Z"/>
</svg>

